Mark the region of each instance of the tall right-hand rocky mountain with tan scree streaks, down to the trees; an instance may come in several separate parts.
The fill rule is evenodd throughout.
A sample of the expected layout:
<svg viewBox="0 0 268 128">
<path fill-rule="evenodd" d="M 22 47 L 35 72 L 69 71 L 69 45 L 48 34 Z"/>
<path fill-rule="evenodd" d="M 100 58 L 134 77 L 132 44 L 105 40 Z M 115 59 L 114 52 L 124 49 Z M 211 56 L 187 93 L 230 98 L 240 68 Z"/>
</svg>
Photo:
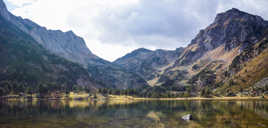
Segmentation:
<svg viewBox="0 0 268 128">
<path fill-rule="evenodd" d="M 214 22 L 200 31 L 173 67 L 167 69 L 161 77 L 165 79 L 165 83 L 171 83 L 174 86 L 193 86 L 193 91 L 199 93 L 205 87 L 217 89 L 240 71 L 232 71 L 233 63 L 237 57 L 243 56 L 246 50 L 264 40 L 267 37 L 267 30 L 268 22 L 259 16 L 237 9 L 218 14 Z M 255 50 L 251 52 L 255 53 Z M 236 66 L 249 63 L 248 61 L 255 57 L 257 55 L 248 57 Z M 259 63 L 264 63 L 265 59 L 260 61 Z M 261 67 L 261 70 L 264 68 Z M 229 75 L 226 76 L 226 74 Z M 174 78 L 177 80 L 174 81 Z M 250 79 L 256 82 L 260 78 Z M 251 82 L 248 86 L 253 84 L 254 82 Z"/>
</svg>

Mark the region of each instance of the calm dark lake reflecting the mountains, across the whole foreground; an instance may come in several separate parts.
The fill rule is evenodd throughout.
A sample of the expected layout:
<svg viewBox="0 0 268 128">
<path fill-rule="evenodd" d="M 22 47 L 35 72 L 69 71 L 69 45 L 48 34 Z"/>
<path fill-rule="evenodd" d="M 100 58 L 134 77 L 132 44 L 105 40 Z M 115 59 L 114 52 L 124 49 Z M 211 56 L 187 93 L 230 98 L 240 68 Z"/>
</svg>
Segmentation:
<svg viewBox="0 0 268 128">
<path fill-rule="evenodd" d="M 184 121 L 183 115 L 193 120 Z M 267 128 L 268 101 L 2 101 L 0 128 Z"/>
</svg>

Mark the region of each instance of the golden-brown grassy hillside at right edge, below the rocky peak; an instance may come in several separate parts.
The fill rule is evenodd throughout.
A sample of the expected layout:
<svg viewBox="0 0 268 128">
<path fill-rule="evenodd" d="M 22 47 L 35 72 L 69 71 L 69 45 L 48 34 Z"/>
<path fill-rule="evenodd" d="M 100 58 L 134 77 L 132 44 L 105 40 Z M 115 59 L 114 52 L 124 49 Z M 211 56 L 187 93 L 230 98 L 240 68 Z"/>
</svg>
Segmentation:
<svg viewBox="0 0 268 128">
<path fill-rule="evenodd" d="M 227 79 L 218 93 L 252 91 L 256 83 L 268 77 L 268 40 L 267 36 L 238 55 L 226 72 Z M 265 86 L 262 88 L 266 90 Z M 267 91 L 267 90 L 266 90 Z M 252 93 L 252 92 L 251 92 Z"/>
</svg>

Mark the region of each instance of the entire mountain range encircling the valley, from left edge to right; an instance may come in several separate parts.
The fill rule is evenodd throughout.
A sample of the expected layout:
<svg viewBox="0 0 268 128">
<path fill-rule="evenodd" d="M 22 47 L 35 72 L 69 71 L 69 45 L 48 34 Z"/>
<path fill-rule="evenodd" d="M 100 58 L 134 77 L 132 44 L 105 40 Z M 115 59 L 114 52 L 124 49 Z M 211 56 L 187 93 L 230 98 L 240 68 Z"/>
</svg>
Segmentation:
<svg viewBox="0 0 268 128">
<path fill-rule="evenodd" d="M 268 88 L 267 37 L 267 21 L 231 9 L 218 14 L 185 48 L 140 48 L 108 62 L 72 31 L 47 30 L 16 17 L 0 0 L 0 92 L 44 87 L 146 93 L 161 87 L 191 96 L 204 90 L 214 95 L 257 95 Z"/>
</svg>

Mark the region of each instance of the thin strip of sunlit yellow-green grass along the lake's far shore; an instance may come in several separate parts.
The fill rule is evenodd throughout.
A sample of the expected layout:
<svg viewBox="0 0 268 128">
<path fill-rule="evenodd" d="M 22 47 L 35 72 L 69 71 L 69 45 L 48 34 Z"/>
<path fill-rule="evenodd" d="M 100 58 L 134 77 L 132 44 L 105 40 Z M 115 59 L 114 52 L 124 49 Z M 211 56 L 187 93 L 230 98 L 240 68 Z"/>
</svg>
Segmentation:
<svg viewBox="0 0 268 128">
<path fill-rule="evenodd" d="M 138 102 L 147 101 L 241 101 L 241 100 L 268 100 L 266 97 L 189 97 L 189 98 L 141 98 L 126 95 L 108 95 L 103 96 L 98 94 L 95 98 L 87 94 L 71 94 L 70 97 L 62 98 L 22 98 L 19 96 L 10 96 L 11 98 L 4 98 L 4 101 L 8 102 L 25 102 L 31 101 L 32 104 L 37 104 L 38 101 L 49 101 L 49 103 L 55 107 L 58 105 L 67 105 L 71 108 L 80 107 L 86 108 L 88 106 L 102 106 L 102 105 L 127 105 Z M 15 98 L 14 98 L 15 97 Z M 1 100 L 1 99 L 0 99 Z"/>
</svg>

